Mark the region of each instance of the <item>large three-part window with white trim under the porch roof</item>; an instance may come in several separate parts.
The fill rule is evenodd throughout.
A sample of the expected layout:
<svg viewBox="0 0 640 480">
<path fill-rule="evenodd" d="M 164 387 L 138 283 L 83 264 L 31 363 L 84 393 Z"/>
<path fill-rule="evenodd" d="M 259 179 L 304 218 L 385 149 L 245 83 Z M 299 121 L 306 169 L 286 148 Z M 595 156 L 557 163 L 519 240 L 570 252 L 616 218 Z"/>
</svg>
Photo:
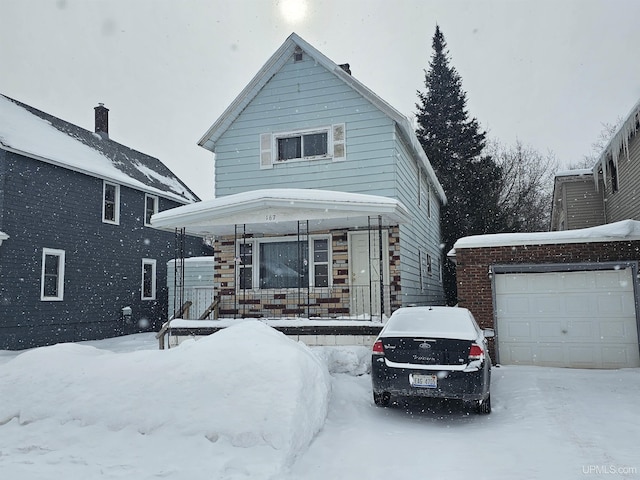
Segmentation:
<svg viewBox="0 0 640 480">
<path fill-rule="evenodd" d="M 239 240 L 236 251 L 241 290 L 331 285 L 328 235 Z"/>
</svg>

